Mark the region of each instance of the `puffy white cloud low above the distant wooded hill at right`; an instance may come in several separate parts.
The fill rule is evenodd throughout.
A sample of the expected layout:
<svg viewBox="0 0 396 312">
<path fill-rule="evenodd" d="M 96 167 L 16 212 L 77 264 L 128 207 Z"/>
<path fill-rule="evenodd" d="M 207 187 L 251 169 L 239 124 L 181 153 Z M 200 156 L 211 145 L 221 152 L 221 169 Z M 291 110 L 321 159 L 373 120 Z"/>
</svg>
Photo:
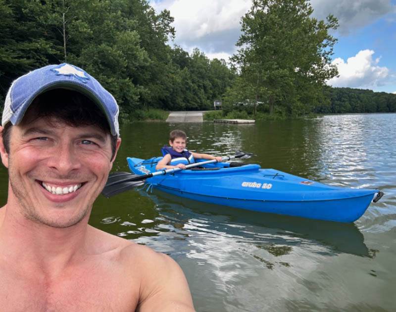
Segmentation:
<svg viewBox="0 0 396 312">
<path fill-rule="evenodd" d="M 328 84 L 333 87 L 362 89 L 385 85 L 390 71 L 387 67 L 379 66 L 380 57 L 373 59 L 373 54 L 372 50 L 362 50 L 349 57 L 347 62 L 341 57 L 336 58 L 332 63 L 337 65 L 339 77 L 330 79 Z"/>
</svg>

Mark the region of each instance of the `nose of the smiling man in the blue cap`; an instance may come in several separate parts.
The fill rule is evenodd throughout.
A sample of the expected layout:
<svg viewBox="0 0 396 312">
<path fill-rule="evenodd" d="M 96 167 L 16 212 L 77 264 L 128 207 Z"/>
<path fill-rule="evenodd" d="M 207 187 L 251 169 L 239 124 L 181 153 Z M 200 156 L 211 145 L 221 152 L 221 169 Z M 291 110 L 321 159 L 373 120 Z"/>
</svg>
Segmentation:
<svg viewBox="0 0 396 312">
<path fill-rule="evenodd" d="M 68 144 L 59 144 L 53 149 L 49 160 L 49 167 L 58 171 L 59 174 L 68 174 L 70 171 L 81 167 L 77 151 Z"/>
</svg>

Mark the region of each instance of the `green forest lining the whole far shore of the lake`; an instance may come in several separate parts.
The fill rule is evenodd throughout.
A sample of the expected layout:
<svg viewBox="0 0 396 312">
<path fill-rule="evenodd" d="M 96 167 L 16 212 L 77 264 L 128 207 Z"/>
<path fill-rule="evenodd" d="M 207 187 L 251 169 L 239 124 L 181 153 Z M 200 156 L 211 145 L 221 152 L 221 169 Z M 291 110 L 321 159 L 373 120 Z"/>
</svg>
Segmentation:
<svg viewBox="0 0 396 312">
<path fill-rule="evenodd" d="M 326 85 L 338 74 L 337 18 L 316 20 L 307 0 L 251 3 L 227 63 L 174 45 L 173 17 L 147 0 L 0 0 L 0 106 L 20 75 L 69 62 L 114 95 L 122 120 L 210 110 L 215 100 L 253 117 L 396 111 L 396 95 Z"/>
</svg>

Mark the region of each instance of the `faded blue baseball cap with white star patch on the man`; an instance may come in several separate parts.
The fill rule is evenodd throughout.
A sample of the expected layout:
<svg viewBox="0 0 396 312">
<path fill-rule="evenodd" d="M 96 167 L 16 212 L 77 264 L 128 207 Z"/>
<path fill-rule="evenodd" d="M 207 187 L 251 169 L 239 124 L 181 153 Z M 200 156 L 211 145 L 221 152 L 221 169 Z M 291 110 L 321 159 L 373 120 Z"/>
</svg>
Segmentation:
<svg viewBox="0 0 396 312">
<path fill-rule="evenodd" d="M 5 98 L 1 125 L 19 124 L 33 100 L 52 89 L 69 89 L 87 96 L 106 116 L 111 134 L 119 136 L 119 109 L 114 97 L 86 71 L 67 63 L 44 66 L 16 79 Z"/>
</svg>

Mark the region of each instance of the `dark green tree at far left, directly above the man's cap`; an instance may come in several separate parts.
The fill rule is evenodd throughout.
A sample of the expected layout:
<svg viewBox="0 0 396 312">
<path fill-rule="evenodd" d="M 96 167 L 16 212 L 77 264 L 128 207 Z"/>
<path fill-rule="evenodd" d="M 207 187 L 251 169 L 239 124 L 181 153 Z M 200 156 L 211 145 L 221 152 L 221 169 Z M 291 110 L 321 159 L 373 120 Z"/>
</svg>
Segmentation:
<svg viewBox="0 0 396 312">
<path fill-rule="evenodd" d="M 43 20 L 47 14 L 41 1 L 0 0 L 0 100 L 18 76 L 58 62 L 61 49 Z"/>
</svg>

